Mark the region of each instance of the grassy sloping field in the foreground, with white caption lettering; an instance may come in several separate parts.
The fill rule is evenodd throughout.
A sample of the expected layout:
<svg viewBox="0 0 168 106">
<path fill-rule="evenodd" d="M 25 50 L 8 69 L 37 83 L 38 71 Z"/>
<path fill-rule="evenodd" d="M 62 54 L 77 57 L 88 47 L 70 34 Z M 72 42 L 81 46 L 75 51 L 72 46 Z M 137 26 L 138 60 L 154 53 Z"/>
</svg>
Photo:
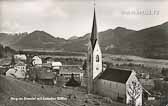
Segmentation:
<svg viewBox="0 0 168 106">
<path fill-rule="evenodd" d="M 12 98 L 57 98 L 56 100 L 14 100 Z M 60 100 L 59 98 L 64 98 Z M 87 94 L 82 88 L 41 86 L 0 76 L 0 106 L 125 106 L 108 98 Z"/>
</svg>

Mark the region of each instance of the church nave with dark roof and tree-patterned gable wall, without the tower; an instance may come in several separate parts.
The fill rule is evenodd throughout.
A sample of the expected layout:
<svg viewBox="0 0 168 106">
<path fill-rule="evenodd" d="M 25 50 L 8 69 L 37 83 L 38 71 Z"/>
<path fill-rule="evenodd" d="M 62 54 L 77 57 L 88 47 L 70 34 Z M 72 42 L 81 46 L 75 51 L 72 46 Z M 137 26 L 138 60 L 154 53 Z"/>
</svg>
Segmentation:
<svg viewBox="0 0 168 106">
<path fill-rule="evenodd" d="M 142 86 L 131 70 L 106 69 L 94 80 L 94 92 L 122 103 L 142 106 Z"/>
</svg>

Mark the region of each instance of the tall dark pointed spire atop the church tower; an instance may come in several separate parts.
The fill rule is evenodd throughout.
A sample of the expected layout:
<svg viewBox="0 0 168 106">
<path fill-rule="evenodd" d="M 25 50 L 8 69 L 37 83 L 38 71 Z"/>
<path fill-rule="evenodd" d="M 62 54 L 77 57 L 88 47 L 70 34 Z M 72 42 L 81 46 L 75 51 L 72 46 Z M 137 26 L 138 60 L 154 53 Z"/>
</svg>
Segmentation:
<svg viewBox="0 0 168 106">
<path fill-rule="evenodd" d="M 92 32 L 91 32 L 90 41 L 91 41 L 91 44 L 92 44 L 92 49 L 94 49 L 96 41 L 97 41 L 97 23 L 96 23 L 95 8 L 94 8 L 93 25 L 92 25 Z"/>
</svg>

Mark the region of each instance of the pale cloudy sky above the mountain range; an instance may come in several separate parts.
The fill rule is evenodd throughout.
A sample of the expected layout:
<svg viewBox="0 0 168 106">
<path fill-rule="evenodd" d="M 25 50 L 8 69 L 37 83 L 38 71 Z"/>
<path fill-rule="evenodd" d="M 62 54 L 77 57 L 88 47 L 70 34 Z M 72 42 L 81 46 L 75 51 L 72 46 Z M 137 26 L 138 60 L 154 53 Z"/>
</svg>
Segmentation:
<svg viewBox="0 0 168 106">
<path fill-rule="evenodd" d="M 69 38 L 91 32 L 93 0 L 0 0 L 0 32 L 45 31 Z M 168 22 L 167 0 L 96 0 L 98 31 L 141 30 Z"/>
</svg>

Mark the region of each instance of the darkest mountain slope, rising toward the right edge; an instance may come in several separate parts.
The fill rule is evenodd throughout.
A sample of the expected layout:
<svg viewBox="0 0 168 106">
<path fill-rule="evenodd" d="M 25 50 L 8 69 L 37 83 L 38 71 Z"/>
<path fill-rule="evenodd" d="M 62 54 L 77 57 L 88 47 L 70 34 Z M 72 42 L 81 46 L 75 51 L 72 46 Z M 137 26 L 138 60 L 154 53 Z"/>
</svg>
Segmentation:
<svg viewBox="0 0 168 106">
<path fill-rule="evenodd" d="M 135 31 L 123 39 L 120 53 L 168 58 L 168 23 Z"/>
</svg>

